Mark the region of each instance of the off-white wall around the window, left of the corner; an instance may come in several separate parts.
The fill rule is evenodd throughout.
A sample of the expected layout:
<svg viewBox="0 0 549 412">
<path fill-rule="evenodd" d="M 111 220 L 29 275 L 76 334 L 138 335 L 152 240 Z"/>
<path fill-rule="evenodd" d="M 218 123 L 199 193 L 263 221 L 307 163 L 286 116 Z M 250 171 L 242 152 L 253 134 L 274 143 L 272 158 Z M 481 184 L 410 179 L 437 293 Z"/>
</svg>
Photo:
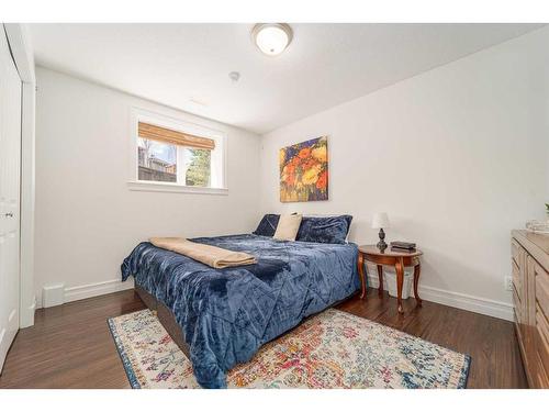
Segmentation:
<svg viewBox="0 0 549 412">
<path fill-rule="evenodd" d="M 56 71 L 36 74 L 38 304 L 45 285 L 83 287 L 71 292 L 80 297 L 123 287 L 117 283 L 123 258 L 149 236 L 255 229 L 260 218 L 257 135 Z M 224 132 L 228 196 L 128 190 L 132 107 Z"/>
</svg>

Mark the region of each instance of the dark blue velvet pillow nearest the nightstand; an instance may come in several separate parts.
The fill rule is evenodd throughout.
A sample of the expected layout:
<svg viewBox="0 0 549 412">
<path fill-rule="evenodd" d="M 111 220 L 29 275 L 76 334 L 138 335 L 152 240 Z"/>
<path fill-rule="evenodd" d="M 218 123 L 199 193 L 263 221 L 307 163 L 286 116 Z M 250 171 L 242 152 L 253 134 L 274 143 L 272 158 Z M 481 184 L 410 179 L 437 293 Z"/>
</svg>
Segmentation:
<svg viewBox="0 0 549 412">
<path fill-rule="evenodd" d="M 351 221 L 352 216 L 349 214 L 325 218 L 304 216 L 295 240 L 301 242 L 345 244 Z"/>
</svg>

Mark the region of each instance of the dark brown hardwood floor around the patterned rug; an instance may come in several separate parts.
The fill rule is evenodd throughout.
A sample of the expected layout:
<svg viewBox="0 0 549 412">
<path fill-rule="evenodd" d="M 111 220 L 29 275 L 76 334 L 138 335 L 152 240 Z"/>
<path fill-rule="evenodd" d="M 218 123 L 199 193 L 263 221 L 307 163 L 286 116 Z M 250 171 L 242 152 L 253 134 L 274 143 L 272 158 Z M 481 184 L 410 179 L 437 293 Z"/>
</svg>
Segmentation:
<svg viewBox="0 0 549 412">
<path fill-rule="evenodd" d="M 13 342 L 0 388 L 130 388 L 107 318 L 144 308 L 123 291 L 36 311 L 35 325 Z M 468 388 L 527 387 L 511 322 L 432 302 L 415 308 L 413 299 L 399 315 L 395 299 L 374 289 L 337 308 L 471 355 Z"/>
</svg>

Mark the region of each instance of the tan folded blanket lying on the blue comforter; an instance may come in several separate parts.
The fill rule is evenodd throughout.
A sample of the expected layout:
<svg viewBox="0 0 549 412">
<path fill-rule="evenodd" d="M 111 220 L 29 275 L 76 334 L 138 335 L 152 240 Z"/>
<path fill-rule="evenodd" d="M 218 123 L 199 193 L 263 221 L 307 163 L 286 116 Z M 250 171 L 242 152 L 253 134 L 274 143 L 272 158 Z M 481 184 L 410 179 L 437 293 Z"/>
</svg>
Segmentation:
<svg viewBox="0 0 549 412">
<path fill-rule="evenodd" d="M 183 237 L 150 237 L 149 242 L 156 247 L 176 252 L 216 269 L 257 263 L 256 258 L 247 253 L 203 245 Z"/>
</svg>

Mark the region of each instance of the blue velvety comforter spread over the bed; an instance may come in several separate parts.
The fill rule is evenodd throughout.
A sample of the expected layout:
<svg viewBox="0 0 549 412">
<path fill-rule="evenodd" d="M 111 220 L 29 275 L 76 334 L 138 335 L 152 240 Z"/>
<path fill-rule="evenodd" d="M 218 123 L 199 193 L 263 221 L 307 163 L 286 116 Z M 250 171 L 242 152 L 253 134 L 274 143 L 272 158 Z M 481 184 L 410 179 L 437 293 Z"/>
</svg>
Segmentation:
<svg viewBox="0 0 549 412">
<path fill-rule="evenodd" d="M 233 366 L 359 286 L 355 244 L 249 234 L 192 241 L 247 252 L 258 261 L 214 269 L 144 242 L 124 259 L 122 279 L 133 275 L 173 312 L 190 346 L 194 376 L 205 388 L 226 387 L 225 374 Z"/>
</svg>

